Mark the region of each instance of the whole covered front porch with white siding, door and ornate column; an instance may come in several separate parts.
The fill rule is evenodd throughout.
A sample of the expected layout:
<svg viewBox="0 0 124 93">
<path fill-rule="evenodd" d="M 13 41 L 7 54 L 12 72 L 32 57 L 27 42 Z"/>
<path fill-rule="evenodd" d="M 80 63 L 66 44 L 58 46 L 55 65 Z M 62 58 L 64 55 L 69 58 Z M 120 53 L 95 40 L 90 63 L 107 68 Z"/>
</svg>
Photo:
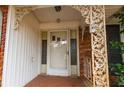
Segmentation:
<svg viewBox="0 0 124 93">
<path fill-rule="evenodd" d="M 110 9 L 10 6 L 2 86 L 109 86 L 105 19 L 116 12 Z"/>
</svg>

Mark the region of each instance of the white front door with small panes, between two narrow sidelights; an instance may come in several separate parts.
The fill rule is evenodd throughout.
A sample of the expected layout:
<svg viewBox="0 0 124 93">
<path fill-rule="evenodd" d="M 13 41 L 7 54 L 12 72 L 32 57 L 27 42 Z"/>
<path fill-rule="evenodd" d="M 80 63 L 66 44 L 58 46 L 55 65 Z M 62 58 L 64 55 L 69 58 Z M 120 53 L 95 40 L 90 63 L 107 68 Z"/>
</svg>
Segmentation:
<svg viewBox="0 0 124 93">
<path fill-rule="evenodd" d="M 49 32 L 48 75 L 68 76 L 67 31 Z"/>
</svg>

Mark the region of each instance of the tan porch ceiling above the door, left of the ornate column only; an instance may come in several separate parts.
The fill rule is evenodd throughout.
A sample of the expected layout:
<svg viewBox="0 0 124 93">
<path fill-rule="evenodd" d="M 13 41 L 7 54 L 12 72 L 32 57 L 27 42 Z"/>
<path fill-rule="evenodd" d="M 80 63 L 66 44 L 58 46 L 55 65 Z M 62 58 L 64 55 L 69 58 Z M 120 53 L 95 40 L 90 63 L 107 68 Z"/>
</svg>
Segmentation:
<svg viewBox="0 0 124 93">
<path fill-rule="evenodd" d="M 61 21 L 77 21 L 82 18 L 80 12 L 68 6 L 62 6 L 60 12 L 56 12 L 54 7 L 37 9 L 34 15 L 41 23 L 56 22 L 58 18 Z"/>
</svg>

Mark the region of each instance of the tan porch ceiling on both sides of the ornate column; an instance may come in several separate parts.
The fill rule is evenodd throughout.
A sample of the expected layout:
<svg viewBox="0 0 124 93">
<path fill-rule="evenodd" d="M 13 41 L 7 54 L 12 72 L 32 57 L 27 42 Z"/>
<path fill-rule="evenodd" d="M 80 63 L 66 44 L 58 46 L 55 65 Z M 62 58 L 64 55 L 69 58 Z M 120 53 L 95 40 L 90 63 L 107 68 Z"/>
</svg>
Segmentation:
<svg viewBox="0 0 124 93">
<path fill-rule="evenodd" d="M 107 22 L 109 22 L 110 17 L 121 7 L 122 5 L 105 6 Z M 62 10 L 60 12 L 56 12 L 54 7 L 40 8 L 35 10 L 33 14 L 40 23 L 56 22 L 58 18 L 61 21 L 79 21 L 82 19 L 82 16 L 78 11 L 68 6 L 62 6 Z"/>
</svg>

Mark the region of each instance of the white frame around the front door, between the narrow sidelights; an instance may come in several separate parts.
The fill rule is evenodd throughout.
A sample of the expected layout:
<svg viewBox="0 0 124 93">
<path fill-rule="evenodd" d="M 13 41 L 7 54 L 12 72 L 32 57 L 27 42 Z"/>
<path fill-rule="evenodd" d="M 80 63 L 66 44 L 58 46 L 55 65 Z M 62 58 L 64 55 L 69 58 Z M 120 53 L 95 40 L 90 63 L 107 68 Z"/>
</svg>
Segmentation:
<svg viewBox="0 0 124 93">
<path fill-rule="evenodd" d="M 50 31 L 48 31 L 48 36 L 47 36 L 47 40 L 48 40 L 48 42 L 47 42 L 47 75 L 49 75 L 50 73 L 49 73 L 49 66 L 50 66 L 50 33 L 51 32 L 61 32 L 61 31 L 65 31 L 65 32 L 67 32 L 67 51 L 69 52 L 69 54 L 67 55 L 67 71 L 68 71 L 68 73 L 67 73 L 67 75 L 64 75 L 64 76 L 70 76 L 71 75 L 71 63 L 70 63 L 70 30 L 65 30 L 65 29 L 63 29 L 63 30 L 50 30 Z"/>
</svg>

